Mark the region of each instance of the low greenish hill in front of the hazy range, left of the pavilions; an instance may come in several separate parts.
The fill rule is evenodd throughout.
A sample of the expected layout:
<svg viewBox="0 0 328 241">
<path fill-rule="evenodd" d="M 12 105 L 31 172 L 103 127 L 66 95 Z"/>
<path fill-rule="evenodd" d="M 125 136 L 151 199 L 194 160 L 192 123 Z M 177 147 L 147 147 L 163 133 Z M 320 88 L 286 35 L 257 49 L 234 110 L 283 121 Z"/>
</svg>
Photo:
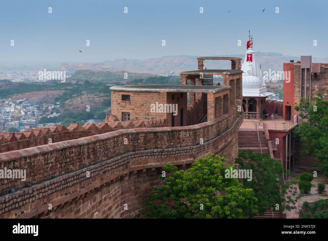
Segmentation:
<svg viewBox="0 0 328 241">
<path fill-rule="evenodd" d="M 117 82 L 124 80 L 133 80 L 143 78 L 146 79 L 154 74 L 148 73 L 131 73 L 127 72 L 128 79 L 124 79 L 125 71 L 101 71 L 101 70 L 76 70 L 70 77 L 71 80 L 90 80 L 90 81 L 102 81 L 102 82 Z"/>
</svg>

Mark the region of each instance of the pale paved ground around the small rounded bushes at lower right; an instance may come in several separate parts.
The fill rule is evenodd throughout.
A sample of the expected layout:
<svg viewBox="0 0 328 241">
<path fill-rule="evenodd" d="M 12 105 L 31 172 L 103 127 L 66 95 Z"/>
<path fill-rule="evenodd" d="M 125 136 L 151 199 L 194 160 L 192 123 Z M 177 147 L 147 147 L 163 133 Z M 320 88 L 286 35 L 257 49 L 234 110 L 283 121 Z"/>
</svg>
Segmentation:
<svg viewBox="0 0 328 241">
<path fill-rule="evenodd" d="M 298 180 L 296 178 L 296 176 L 299 176 L 299 174 L 301 174 L 303 172 L 313 173 L 313 171 L 318 171 L 318 169 L 316 169 L 312 166 L 295 166 L 294 171 L 291 171 L 291 175 L 288 177 L 288 181 Z M 318 192 L 316 191 L 318 189 L 318 183 L 325 180 L 325 176 L 321 172 L 318 171 L 317 175 L 318 176 L 313 178 L 313 180 L 311 182 L 312 187 L 311 187 L 310 193 L 304 194 L 303 197 L 300 200 L 298 200 L 298 202 L 296 203 L 297 209 L 294 209 L 292 211 L 286 211 L 286 218 L 298 218 L 299 211 L 301 210 L 304 201 L 315 202 L 315 201 L 318 201 L 319 199 L 328 199 L 328 196 L 318 195 Z M 326 185 L 325 190 L 327 193 L 328 184 L 325 184 L 325 185 Z M 298 185 L 297 185 L 297 189 L 298 189 Z"/>
</svg>

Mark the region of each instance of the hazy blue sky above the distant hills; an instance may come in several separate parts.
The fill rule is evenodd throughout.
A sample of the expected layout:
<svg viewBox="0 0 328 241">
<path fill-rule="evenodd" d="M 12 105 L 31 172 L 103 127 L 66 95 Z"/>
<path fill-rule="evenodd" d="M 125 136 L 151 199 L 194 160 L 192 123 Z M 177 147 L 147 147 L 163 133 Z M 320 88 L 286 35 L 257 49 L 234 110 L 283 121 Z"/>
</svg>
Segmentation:
<svg viewBox="0 0 328 241">
<path fill-rule="evenodd" d="M 255 51 L 326 58 L 327 10 L 319 0 L 0 0 L 0 64 L 243 54 L 249 30 Z"/>
</svg>

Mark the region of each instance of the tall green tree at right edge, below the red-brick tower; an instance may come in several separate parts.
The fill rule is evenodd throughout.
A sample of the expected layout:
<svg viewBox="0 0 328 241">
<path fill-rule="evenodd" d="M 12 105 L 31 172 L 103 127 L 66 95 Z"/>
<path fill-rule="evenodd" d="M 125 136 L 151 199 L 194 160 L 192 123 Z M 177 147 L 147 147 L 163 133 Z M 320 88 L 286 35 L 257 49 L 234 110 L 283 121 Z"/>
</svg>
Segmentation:
<svg viewBox="0 0 328 241">
<path fill-rule="evenodd" d="M 328 91 L 327 91 L 328 92 Z M 307 121 L 297 125 L 294 135 L 299 136 L 304 147 L 301 154 L 312 154 L 319 161 L 317 166 L 328 178 L 328 101 L 322 99 L 322 94 L 309 98 L 301 98 L 295 110 Z"/>
</svg>

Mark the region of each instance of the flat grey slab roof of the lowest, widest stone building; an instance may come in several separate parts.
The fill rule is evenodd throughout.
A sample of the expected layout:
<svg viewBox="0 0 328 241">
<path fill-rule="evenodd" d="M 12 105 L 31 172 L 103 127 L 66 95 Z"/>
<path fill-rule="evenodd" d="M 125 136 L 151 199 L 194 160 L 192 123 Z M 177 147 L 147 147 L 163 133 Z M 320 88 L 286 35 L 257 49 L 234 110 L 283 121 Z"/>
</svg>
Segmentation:
<svg viewBox="0 0 328 241">
<path fill-rule="evenodd" d="M 202 92 L 202 93 L 216 93 L 223 90 L 229 90 L 230 86 L 218 85 L 124 85 L 112 86 L 110 90 L 113 91 L 127 91 L 127 92 Z"/>
</svg>

